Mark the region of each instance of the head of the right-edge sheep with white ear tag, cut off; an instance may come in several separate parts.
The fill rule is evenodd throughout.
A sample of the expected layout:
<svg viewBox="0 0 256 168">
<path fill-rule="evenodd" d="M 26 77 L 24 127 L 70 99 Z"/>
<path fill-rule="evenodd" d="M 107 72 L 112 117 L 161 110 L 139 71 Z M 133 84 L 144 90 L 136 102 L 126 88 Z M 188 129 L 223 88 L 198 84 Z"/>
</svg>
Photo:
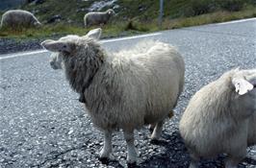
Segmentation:
<svg viewBox="0 0 256 168">
<path fill-rule="evenodd" d="M 256 112 L 256 69 L 241 70 L 232 77 L 234 105 L 240 111 Z"/>
</svg>

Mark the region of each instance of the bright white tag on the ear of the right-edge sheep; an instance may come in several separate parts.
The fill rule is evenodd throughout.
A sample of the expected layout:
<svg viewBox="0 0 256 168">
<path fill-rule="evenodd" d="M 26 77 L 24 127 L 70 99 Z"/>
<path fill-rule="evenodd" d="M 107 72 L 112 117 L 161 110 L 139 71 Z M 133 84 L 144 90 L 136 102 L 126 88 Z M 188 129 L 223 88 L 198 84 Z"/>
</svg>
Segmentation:
<svg viewBox="0 0 256 168">
<path fill-rule="evenodd" d="M 234 78 L 232 80 L 232 84 L 234 84 L 236 92 L 239 93 L 239 95 L 243 95 L 253 89 L 253 84 L 250 84 L 246 80 L 240 78 Z"/>
</svg>

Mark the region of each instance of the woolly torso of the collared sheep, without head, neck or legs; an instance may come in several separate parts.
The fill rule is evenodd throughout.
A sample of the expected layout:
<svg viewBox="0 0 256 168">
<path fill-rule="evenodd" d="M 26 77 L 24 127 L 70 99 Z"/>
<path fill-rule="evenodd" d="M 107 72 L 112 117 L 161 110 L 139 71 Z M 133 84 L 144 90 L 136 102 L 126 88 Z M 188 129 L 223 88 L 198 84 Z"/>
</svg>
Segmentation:
<svg viewBox="0 0 256 168">
<path fill-rule="evenodd" d="M 160 48 L 146 54 L 118 55 L 111 68 L 103 68 L 96 77 L 101 83 L 95 82 L 101 95 L 88 92 L 95 98 L 90 115 L 96 126 L 140 129 L 166 118 L 180 93 L 184 62 L 172 48 Z"/>
</svg>

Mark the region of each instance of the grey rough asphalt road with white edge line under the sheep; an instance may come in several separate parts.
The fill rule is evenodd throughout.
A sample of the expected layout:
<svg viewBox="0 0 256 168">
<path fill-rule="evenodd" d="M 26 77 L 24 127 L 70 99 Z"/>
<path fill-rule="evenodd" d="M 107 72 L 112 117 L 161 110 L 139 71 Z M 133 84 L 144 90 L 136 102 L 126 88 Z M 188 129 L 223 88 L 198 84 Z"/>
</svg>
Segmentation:
<svg viewBox="0 0 256 168">
<path fill-rule="evenodd" d="M 180 115 L 202 85 L 229 69 L 256 67 L 256 19 L 105 40 L 104 46 L 116 51 L 148 39 L 179 49 L 186 61 L 186 84 L 160 143 L 150 143 L 146 128 L 136 132 L 139 167 L 188 167 L 190 157 L 177 129 Z M 112 160 L 98 160 L 102 134 L 92 127 L 64 73 L 51 69 L 48 60 L 44 51 L 0 55 L 0 167 L 126 167 L 120 132 L 115 133 Z M 239 167 L 255 168 L 255 157 L 256 147 L 248 149 Z M 203 159 L 200 167 L 222 167 L 223 159 Z"/>
</svg>

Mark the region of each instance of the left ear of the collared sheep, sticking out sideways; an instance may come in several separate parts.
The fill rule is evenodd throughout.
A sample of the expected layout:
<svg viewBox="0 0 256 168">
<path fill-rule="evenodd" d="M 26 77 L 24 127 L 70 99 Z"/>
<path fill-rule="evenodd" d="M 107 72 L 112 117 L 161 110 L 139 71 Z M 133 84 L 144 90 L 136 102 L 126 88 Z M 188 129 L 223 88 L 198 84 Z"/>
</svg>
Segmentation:
<svg viewBox="0 0 256 168">
<path fill-rule="evenodd" d="M 64 41 L 55 41 L 52 39 L 47 39 L 41 42 L 41 46 L 43 46 L 46 50 L 52 52 L 67 52 L 70 53 L 73 49 L 73 45 Z"/>
</svg>

